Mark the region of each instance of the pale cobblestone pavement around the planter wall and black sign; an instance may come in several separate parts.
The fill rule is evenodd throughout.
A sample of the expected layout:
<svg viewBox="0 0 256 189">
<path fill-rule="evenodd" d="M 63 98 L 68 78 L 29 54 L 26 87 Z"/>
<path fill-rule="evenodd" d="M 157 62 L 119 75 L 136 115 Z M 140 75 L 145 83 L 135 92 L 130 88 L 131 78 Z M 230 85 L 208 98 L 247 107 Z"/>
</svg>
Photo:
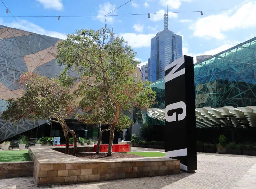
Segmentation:
<svg viewBox="0 0 256 189">
<path fill-rule="evenodd" d="M 140 150 L 140 149 L 139 149 Z M 141 151 L 141 150 L 140 150 Z M 154 149 L 153 151 L 158 151 Z M 158 177 L 144 177 L 57 185 L 52 189 L 256 189 L 256 157 L 197 153 L 198 171 Z M 0 179 L 1 189 L 34 189 L 33 177 Z"/>
</svg>

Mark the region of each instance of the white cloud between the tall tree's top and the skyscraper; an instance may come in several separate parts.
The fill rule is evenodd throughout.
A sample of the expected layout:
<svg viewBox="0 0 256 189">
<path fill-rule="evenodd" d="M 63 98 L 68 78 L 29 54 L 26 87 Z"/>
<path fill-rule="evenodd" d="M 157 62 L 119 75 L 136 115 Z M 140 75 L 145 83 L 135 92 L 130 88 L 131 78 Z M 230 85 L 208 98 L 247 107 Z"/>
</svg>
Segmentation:
<svg viewBox="0 0 256 189">
<path fill-rule="evenodd" d="M 155 34 L 135 34 L 135 33 L 124 33 L 120 34 L 129 45 L 133 48 L 150 47 L 151 38 L 155 37 Z"/>
</svg>

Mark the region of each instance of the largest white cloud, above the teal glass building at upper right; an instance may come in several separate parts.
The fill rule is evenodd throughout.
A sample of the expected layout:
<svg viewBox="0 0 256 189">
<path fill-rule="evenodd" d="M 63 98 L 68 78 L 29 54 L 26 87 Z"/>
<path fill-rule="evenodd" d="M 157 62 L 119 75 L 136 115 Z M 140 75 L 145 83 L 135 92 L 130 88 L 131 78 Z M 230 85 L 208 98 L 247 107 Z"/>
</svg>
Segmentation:
<svg viewBox="0 0 256 189">
<path fill-rule="evenodd" d="M 256 26 L 256 2 L 248 2 L 226 12 L 198 19 L 191 24 L 194 36 L 224 39 L 224 32 Z"/>
</svg>

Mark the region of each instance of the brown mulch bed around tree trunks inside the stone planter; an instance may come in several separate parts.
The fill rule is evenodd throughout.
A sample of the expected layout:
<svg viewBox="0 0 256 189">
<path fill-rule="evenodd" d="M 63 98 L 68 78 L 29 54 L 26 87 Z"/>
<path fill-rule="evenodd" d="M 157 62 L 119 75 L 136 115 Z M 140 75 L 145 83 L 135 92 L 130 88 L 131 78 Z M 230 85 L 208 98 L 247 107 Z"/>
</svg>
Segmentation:
<svg viewBox="0 0 256 189">
<path fill-rule="evenodd" d="M 134 155 L 134 154 L 125 154 L 125 153 L 112 153 L 111 157 L 107 157 L 107 153 L 78 153 L 76 154 L 77 157 L 80 158 L 90 158 L 90 159 L 98 159 L 98 158 L 104 158 L 104 159 L 111 159 L 111 158 L 135 158 L 135 157 L 143 157 L 140 155 Z"/>
</svg>

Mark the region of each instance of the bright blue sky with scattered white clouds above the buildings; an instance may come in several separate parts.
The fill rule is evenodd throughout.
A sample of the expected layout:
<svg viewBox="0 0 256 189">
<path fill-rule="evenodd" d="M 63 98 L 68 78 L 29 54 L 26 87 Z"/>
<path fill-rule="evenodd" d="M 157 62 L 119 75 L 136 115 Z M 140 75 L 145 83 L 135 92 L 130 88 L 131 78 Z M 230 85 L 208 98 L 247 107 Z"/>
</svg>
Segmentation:
<svg viewBox="0 0 256 189">
<path fill-rule="evenodd" d="M 105 15 L 128 0 L 3 0 L 13 15 Z M 250 0 L 132 0 L 112 14 L 163 12 L 169 9 L 169 30 L 183 37 L 183 55 L 216 54 L 256 36 L 256 1 Z M 222 11 L 207 11 L 228 9 Z M 172 13 L 182 11 L 199 12 Z M 104 17 L 17 18 L 7 15 L 0 2 L 0 24 L 30 32 L 65 38 L 77 29 L 98 29 Z M 11 16 L 8 13 L 8 16 Z M 124 37 L 145 64 L 150 57 L 150 39 L 163 30 L 163 15 L 107 17 L 107 26 Z"/>
</svg>

